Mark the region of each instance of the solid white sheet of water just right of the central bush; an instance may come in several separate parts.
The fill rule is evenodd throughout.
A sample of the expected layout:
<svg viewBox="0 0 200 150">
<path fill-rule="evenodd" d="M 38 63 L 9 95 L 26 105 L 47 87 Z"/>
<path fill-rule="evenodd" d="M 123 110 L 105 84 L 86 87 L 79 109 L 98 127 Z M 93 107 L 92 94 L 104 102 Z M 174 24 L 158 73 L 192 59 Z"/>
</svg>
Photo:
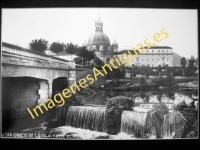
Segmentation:
<svg viewBox="0 0 200 150">
<path fill-rule="evenodd" d="M 136 111 L 123 111 L 121 119 L 121 132 L 133 135 L 136 138 L 145 136 L 147 113 Z"/>
</svg>

